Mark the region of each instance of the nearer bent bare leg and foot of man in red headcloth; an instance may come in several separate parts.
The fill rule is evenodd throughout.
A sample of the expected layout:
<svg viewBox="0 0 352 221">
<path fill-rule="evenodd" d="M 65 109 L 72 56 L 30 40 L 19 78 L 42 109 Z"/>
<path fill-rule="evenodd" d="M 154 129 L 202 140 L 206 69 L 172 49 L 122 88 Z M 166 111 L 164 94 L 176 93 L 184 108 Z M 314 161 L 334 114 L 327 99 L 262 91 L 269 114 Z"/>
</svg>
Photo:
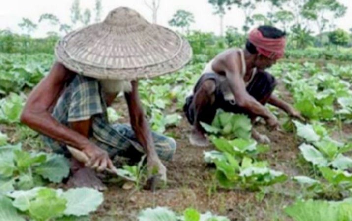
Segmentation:
<svg viewBox="0 0 352 221">
<path fill-rule="evenodd" d="M 200 122 L 211 124 L 215 117 L 215 91 L 215 81 L 213 79 L 207 79 L 200 84 L 198 90 L 196 90 L 193 95 L 193 100 L 188 107 L 188 111 L 192 111 L 194 116 L 194 121 L 192 122 L 193 128 L 189 137 L 192 145 L 209 145 L 209 142 L 205 137 L 205 131 Z"/>
</svg>

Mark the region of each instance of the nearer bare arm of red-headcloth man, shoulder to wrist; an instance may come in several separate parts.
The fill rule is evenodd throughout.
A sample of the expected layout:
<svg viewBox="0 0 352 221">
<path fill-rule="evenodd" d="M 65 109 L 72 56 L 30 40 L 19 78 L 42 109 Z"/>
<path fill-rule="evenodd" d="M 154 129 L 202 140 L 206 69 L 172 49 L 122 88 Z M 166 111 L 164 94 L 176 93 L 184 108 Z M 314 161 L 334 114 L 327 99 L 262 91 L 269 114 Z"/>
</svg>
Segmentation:
<svg viewBox="0 0 352 221">
<path fill-rule="evenodd" d="M 275 118 L 270 111 L 248 94 L 246 85 L 240 75 L 239 67 L 235 62 L 237 59 L 238 57 L 235 53 L 229 53 L 223 58 L 215 60 L 213 66 L 226 73 L 230 89 L 235 96 L 236 103 L 240 107 L 245 108 L 255 115 L 261 116 L 264 119 Z"/>
</svg>

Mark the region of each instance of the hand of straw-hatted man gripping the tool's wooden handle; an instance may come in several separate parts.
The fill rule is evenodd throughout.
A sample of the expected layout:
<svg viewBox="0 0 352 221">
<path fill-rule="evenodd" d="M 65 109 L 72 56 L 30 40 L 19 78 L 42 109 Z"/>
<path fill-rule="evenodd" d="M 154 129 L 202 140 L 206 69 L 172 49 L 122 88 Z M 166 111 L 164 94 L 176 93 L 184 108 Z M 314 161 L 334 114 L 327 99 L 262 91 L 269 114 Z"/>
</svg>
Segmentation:
<svg viewBox="0 0 352 221">
<path fill-rule="evenodd" d="M 89 161 L 86 163 L 87 167 L 96 169 L 98 172 L 114 168 L 114 164 L 105 150 L 89 144 L 82 151 L 89 157 Z"/>
</svg>

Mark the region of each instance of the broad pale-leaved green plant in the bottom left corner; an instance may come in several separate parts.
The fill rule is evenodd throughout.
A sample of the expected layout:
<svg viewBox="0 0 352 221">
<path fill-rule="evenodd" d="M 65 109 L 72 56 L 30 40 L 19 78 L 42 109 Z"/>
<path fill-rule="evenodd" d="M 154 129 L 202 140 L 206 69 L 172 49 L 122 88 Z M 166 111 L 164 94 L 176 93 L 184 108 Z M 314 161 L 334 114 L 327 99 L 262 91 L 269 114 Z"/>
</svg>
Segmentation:
<svg viewBox="0 0 352 221">
<path fill-rule="evenodd" d="M 8 211 L 16 214 L 17 209 L 24 214 L 21 217 L 35 221 L 79 221 L 103 202 L 103 194 L 90 188 L 75 188 L 63 192 L 61 189 L 37 187 L 28 191 L 14 191 L 8 193 L 7 197 L 3 196 L 0 202 L 6 203 Z M 5 216 L 6 212 L 0 211 L 0 217 Z"/>
</svg>

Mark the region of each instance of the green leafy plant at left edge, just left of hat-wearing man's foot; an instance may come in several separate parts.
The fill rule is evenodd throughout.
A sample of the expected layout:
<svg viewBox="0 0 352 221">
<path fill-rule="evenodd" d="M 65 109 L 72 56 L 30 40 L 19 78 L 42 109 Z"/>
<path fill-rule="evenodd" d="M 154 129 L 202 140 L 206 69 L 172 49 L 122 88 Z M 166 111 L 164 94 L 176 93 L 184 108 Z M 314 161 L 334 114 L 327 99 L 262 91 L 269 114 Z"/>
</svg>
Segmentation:
<svg viewBox="0 0 352 221">
<path fill-rule="evenodd" d="M 29 153 L 21 144 L 0 147 L 0 193 L 30 189 L 45 180 L 59 183 L 69 174 L 69 163 L 62 155 Z"/>
</svg>

